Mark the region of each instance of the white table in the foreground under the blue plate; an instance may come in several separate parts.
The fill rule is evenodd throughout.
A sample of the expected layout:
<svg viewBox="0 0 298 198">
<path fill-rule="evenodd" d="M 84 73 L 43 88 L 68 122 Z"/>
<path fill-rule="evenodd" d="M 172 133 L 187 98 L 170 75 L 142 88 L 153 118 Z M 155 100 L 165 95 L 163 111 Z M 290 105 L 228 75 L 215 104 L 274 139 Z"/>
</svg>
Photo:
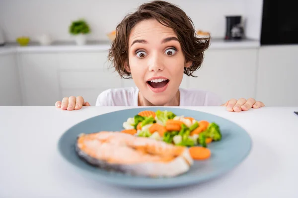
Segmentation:
<svg viewBox="0 0 298 198">
<path fill-rule="evenodd" d="M 131 190 L 99 183 L 74 171 L 58 152 L 74 124 L 127 107 L 0 106 L 0 198 L 298 198 L 298 107 L 228 112 L 188 107 L 229 119 L 250 134 L 248 157 L 224 176 L 168 190 Z"/>
</svg>

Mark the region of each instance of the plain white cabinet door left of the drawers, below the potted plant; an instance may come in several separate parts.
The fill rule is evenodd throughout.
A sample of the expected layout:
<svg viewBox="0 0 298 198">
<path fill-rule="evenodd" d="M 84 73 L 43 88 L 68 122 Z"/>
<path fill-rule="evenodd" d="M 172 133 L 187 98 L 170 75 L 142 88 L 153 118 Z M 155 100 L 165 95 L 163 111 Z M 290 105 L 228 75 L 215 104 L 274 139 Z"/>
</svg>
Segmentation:
<svg viewBox="0 0 298 198">
<path fill-rule="evenodd" d="M 57 54 L 20 53 L 18 56 L 24 105 L 55 105 L 61 98 Z"/>
</svg>

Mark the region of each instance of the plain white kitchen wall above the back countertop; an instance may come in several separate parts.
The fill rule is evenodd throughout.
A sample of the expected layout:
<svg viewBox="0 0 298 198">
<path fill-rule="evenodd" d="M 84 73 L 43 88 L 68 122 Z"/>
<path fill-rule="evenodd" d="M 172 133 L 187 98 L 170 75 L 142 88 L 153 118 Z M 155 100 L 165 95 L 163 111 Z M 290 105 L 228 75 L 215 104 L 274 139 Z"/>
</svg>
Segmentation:
<svg viewBox="0 0 298 198">
<path fill-rule="evenodd" d="M 72 40 L 68 27 L 72 20 L 85 18 L 91 25 L 90 40 L 108 40 L 106 34 L 138 5 L 148 0 L 0 0 L 0 27 L 7 41 L 19 36 L 37 40 L 49 33 L 54 40 Z M 225 15 L 240 14 L 247 21 L 248 36 L 259 39 L 262 0 L 169 0 L 179 5 L 196 29 L 224 37 Z M 249 18 L 247 18 L 249 16 Z"/>
</svg>

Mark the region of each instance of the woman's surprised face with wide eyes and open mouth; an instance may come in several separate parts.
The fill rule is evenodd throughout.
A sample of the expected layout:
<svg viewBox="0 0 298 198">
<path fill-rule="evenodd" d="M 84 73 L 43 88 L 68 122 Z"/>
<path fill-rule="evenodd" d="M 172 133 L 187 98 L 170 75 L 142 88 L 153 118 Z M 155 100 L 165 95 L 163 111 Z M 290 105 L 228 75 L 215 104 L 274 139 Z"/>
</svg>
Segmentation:
<svg viewBox="0 0 298 198">
<path fill-rule="evenodd" d="M 179 89 L 185 62 L 178 37 L 157 20 L 139 22 L 129 37 L 129 66 L 143 97 L 153 105 L 170 102 Z"/>
</svg>

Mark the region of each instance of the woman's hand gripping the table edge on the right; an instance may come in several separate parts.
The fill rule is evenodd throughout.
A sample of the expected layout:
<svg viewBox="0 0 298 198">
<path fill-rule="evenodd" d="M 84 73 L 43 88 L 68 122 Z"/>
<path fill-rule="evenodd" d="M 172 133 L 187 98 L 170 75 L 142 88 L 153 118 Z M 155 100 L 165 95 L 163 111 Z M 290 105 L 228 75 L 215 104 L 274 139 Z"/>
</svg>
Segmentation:
<svg viewBox="0 0 298 198">
<path fill-rule="evenodd" d="M 265 106 L 265 104 L 261 101 L 256 101 L 255 99 L 230 99 L 226 101 L 224 104 L 221 106 L 226 106 L 226 109 L 228 111 L 235 111 L 235 112 L 240 112 L 240 111 L 247 111 L 250 108 L 260 108 Z"/>
</svg>

